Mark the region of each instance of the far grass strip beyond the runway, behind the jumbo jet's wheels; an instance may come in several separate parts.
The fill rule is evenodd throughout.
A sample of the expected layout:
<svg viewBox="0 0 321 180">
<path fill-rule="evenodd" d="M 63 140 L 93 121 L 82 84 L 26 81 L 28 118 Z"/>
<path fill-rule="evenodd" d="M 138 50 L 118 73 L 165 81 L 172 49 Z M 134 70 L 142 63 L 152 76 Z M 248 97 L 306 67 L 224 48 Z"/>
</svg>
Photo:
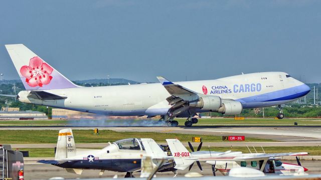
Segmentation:
<svg viewBox="0 0 321 180">
<path fill-rule="evenodd" d="M 3 120 L 0 121 L 0 125 L 81 125 L 84 126 L 114 126 L 114 125 L 144 125 L 146 119 L 108 119 L 108 120 L 94 120 L 94 119 L 82 119 L 82 120 Z M 157 121 L 156 119 L 150 119 L 151 121 Z M 185 118 L 176 118 L 179 121 L 179 125 L 184 125 Z M 234 118 L 199 118 L 197 125 L 251 125 L 262 124 L 264 125 L 294 125 L 294 122 L 300 125 L 321 125 L 321 119 L 317 118 L 285 118 L 285 119 L 273 119 L 273 118 L 245 118 L 244 120 L 234 120 Z"/>
</svg>

